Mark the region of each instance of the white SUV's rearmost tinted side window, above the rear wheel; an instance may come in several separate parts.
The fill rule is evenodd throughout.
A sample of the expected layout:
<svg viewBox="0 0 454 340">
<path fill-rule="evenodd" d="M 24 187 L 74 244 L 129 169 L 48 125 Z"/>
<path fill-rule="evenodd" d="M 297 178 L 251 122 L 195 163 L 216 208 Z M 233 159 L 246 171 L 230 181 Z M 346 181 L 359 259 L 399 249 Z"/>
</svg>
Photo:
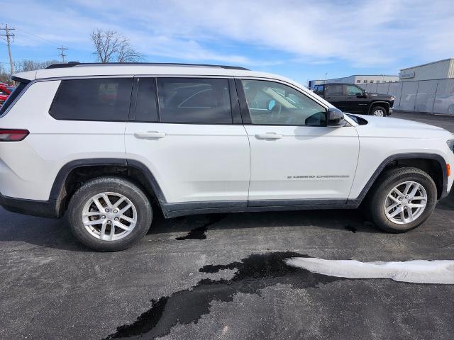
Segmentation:
<svg viewBox="0 0 454 340">
<path fill-rule="evenodd" d="M 62 80 L 50 115 L 62 120 L 128 120 L 131 78 Z"/>
</svg>

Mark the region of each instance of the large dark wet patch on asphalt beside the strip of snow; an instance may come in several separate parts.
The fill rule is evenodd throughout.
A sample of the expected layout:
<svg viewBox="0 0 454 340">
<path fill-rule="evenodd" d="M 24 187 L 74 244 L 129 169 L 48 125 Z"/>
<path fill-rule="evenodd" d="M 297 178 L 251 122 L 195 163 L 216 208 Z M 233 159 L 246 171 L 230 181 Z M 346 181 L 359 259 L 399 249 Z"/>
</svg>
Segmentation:
<svg viewBox="0 0 454 340">
<path fill-rule="evenodd" d="M 170 334 L 177 324 L 196 324 L 204 314 L 209 314 L 212 301 L 231 302 L 237 293 L 260 295 L 263 288 L 278 283 L 293 288 L 316 288 L 345 278 L 311 273 L 305 269 L 287 266 L 284 259 L 309 256 L 292 251 L 252 254 L 241 261 L 222 265 L 208 265 L 201 273 L 217 273 L 225 269 L 236 270 L 230 280 L 200 280 L 194 287 L 179 290 L 170 296 L 151 301 L 150 310 L 141 314 L 132 324 L 117 328 L 105 339 L 155 339 Z"/>
</svg>

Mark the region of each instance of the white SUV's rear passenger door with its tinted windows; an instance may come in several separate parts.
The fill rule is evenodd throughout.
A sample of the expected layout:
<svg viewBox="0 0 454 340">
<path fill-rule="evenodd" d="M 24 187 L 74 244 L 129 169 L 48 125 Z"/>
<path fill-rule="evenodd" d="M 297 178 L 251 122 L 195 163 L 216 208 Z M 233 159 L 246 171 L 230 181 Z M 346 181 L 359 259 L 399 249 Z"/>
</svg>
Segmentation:
<svg viewBox="0 0 454 340">
<path fill-rule="evenodd" d="M 127 159 L 150 169 L 167 203 L 245 206 L 249 142 L 233 79 L 138 77 L 135 82 Z"/>
</svg>

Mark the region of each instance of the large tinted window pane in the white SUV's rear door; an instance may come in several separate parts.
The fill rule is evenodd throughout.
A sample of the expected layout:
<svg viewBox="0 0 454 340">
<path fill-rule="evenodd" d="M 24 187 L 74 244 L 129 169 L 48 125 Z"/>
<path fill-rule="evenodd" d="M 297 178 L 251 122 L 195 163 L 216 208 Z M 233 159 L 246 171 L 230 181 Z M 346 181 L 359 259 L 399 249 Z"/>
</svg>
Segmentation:
<svg viewBox="0 0 454 340">
<path fill-rule="evenodd" d="M 232 123 L 227 79 L 158 78 L 162 123 Z"/>
</svg>

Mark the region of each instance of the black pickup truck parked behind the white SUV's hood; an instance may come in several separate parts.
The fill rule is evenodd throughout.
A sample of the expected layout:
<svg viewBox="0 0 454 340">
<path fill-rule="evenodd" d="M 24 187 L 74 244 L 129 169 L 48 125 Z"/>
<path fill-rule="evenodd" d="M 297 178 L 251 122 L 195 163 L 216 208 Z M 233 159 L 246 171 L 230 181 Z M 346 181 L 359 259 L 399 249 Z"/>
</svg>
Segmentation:
<svg viewBox="0 0 454 340">
<path fill-rule="evenodd" d="M 368 93 L 353 84 L 319 84 L 314 92 L 340 110 L 363 115 L 391 115 L 394 97 L 389 94 Z"/>
</svg>

